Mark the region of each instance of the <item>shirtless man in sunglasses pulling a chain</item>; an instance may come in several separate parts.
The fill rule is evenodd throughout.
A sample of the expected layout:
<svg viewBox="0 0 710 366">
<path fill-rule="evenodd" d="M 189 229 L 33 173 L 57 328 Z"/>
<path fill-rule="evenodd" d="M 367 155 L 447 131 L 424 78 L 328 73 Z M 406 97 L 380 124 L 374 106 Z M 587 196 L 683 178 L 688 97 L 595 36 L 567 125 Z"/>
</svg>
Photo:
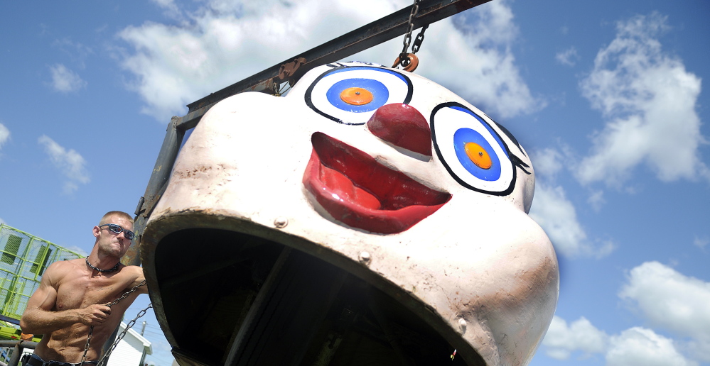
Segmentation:
<svg viewBox="0 0 710 366">
<path fill-rule="evenodd" d="M 44 366 L 50 361 L 79 365 L 90 326 L 94 331 L 84 364 L 97 364 L 126 309 L 139 294 L 148 293 L 144 285 L 118 304 L 106 306 L 144 280 L 141 267 L 119 262 L 131 245 L 132 230 L 129 214 L 111 211 L 94 226 L 96 242 L 89 257 L 54 262 L 47 268 L 20 320 L 23 333 L 44 334 L 25 365 Z"/>
</svg>

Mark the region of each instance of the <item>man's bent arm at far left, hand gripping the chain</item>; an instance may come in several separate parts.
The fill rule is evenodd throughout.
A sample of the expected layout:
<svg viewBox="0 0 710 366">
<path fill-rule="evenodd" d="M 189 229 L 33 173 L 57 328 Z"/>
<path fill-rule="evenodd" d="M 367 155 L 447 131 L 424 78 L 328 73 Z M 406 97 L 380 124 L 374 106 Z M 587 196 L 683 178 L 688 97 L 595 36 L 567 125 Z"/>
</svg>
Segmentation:
<svg viewBox="0 0 710 366">
<path fill-rule="evenodd" d="M 23 333 L 46 334 L 67 328 L 75 323 L 95 326 L 111 314 L 105 305 L 90 305 L 83 309 L 53 311 L 57 303 L 58 280 L 65 276 L 68 263 L 55 262 L 45 270 L 37 291 L 27 301 L 20 319 Z"/>
</svg>

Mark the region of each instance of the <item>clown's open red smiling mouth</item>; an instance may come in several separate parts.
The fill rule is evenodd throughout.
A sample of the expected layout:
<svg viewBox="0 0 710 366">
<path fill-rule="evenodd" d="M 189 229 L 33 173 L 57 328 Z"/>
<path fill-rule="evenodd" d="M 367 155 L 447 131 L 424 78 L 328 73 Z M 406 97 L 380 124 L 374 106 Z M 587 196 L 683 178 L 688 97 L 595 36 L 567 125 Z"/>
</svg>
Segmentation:
<svg viewBox="0 0 710 366">
<path fill-rule="evenodd" d="M 324 133 L 313 133 L 311 143 L 303 185 L 328 214 L 348 226 L 401 233 L 451 199 Z"/>
</svg>

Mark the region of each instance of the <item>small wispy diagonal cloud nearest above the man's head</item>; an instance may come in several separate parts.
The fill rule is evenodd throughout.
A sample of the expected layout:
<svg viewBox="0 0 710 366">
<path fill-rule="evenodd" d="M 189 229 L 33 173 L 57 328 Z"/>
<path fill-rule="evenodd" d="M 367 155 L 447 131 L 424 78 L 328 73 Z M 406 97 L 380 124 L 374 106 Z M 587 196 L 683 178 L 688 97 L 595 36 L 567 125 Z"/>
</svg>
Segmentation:
<svg viewBox="0 0 710 366">
<path fill-rule="evenodd" d="M 37 142 L 44 146 L 50 160 L 65 177 L 63 187 L 65 194 L 75 192 L 79 188 L 79 183 L 87 184 L 90 181 L 89 173 L 85 167 L 86 160 L 74 149 L 63 148 L 47 135 L 41 135 Z"/>
</svg>

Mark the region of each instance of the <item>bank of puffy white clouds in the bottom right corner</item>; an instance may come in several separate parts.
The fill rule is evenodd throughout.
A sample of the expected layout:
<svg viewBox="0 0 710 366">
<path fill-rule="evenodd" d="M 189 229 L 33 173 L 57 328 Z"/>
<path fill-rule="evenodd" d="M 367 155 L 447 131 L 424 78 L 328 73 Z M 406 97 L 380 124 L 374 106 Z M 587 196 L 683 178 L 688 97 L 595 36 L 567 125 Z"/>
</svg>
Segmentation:
<svg viewBox="0 0 710 366">
<path fill-rule="evenodd" d="M 645 262 L 630 270 L 618 296 L 650 326 L 665 328 L 677 338 L 639 326 L 607 336 L 584 317 L 568 326 L 555 316 L 542 341 L 545 353 L 558 360 L 577 351 L 582 357 L 603 354 L 608 366 L 710 362 L 710 282 Z"/>
</svg>

